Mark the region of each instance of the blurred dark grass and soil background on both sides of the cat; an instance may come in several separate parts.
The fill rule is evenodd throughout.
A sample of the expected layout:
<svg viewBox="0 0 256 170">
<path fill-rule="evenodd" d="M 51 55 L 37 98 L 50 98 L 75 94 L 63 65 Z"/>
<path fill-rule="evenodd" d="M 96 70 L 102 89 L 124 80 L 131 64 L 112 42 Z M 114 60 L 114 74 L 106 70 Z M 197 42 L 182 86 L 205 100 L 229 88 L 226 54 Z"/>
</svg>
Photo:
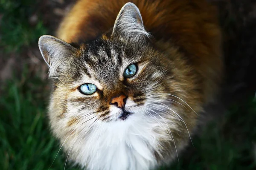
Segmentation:
<svg viewBox="0 0 256 170">
<path fill-rule="evenodd" d="M 179 162 L 162 170 L 255 170 L 256 52 L 254 1 L 216 1 L 224 31 L 227 82 L 223 102 L 228 108 L 201 129 L 179 155 Z M 47 67 L 37 41 L 54 34 L 72 3 L 65 0 L 0 0 L 0 169 L 45 170 L 59 150 L 49 131 Z M 254 43 L 255 42 L 255 43 Z M 228 57 L 231 56 L 231 57 Z M 249 78 L 248 78 L 249 77 Z M 228 102 L 227 102 L 228 101 Z M 63 170 L 58 153 L 51 170 Z M 67 170 L 78 170 L 69 165 Z"/>
</svg>

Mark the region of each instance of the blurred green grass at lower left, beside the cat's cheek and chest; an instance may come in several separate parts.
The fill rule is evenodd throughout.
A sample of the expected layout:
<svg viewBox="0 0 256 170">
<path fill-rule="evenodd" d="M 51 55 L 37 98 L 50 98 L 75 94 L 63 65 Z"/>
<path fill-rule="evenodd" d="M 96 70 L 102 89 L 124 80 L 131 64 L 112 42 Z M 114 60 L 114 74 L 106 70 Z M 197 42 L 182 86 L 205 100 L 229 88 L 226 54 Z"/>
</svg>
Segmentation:
<svg viewBox="0 0 256 170">
<path fill-rule="evenodd" d="M 59 149 L 47 125 L 45 96 L 49 92 L 39 79 L 27 81 L 8 82 L 2 89 L 5 92 L 0 98 L 2 170 L 48 169 Z M 56 169 L 64 169 L 62 153 L 51 167 Z"/>
</svg>

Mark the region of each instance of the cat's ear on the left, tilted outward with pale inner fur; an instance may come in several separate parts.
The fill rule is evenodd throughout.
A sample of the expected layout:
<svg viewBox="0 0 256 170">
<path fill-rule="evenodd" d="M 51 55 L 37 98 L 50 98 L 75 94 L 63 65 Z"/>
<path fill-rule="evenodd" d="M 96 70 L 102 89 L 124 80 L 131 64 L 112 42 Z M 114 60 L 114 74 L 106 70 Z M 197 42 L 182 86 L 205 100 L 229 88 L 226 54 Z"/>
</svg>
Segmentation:
<svg viewBox="0 0 256 170">
<path fill-rule="evenodd" d="M 44 61 L 49 66 L 49 77 L 55 74 L 58 66 L 75 50 L 72 45 L 50 35 L 41 36 L 38 45 Z"/>
</svg>

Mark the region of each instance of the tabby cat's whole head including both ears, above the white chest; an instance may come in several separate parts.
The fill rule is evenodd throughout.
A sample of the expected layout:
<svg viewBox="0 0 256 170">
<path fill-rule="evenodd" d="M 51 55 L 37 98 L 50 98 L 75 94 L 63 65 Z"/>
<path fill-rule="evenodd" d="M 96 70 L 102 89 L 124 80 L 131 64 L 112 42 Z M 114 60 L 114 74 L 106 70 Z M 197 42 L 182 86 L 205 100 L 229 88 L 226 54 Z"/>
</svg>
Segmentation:
<svg viewBox="0 0 256 170">
<path fill-rule="evenodd" d="M 39 47 L 54 84 L 49 106 L 53 123 L 83 127 L 87 121 L 195 118 L 194 113 L 175 112 L 182 108 L 192 113 L 184 101 L 197 98 L 189 67 L 176 48 L 164 51 L 151 42 L 132 3 L 121 9 L 113 29 L 95 40 L 73 46 L 42 36 Z"/>
</svg>

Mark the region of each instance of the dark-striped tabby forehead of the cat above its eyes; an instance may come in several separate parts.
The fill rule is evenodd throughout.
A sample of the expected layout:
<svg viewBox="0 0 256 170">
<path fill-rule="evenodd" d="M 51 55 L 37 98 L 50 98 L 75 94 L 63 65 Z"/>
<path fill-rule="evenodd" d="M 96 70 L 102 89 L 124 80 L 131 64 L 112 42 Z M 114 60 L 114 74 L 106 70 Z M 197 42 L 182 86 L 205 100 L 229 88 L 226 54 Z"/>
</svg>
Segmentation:
<svg viewBox="0 0 256 170">
<path fill-rule="evenodd" d="M 128 45 L 104 40 L 81 45 L 77 55 L 74 63 L 80 63 L 81 73 L 102 81 L 117 79 L 138 59 Z"/>
</svg>

